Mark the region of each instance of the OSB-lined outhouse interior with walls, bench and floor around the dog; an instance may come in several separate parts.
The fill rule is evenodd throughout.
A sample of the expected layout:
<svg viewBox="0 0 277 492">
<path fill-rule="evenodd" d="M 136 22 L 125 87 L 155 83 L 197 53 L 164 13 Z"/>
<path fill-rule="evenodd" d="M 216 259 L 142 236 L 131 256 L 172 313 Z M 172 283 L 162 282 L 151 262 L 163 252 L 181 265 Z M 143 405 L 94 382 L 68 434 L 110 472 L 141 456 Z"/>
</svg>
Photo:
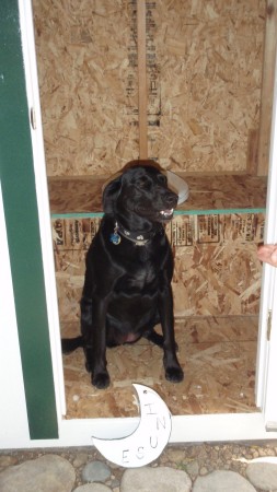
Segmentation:
<svg viewBox="0 0 277 492">
<path fill-rule="evenodd" d="M 102 187 L 141 157 L 145 125 L 143 152 L 189 187 L 166 226 L 185 379 L 166 382 L 161 350 L 140 340 L 107 351 L 112 382 L 100 390 L 79 349 L 64 356 L 66 417 L 136 415 L 131 383 L 174 415 L 253 412 L 276 11 L 265 0 L 143 0 L 141 19 L 138 7 L 33 0 L 60 327 L 79 333 Z"/>
</svg>

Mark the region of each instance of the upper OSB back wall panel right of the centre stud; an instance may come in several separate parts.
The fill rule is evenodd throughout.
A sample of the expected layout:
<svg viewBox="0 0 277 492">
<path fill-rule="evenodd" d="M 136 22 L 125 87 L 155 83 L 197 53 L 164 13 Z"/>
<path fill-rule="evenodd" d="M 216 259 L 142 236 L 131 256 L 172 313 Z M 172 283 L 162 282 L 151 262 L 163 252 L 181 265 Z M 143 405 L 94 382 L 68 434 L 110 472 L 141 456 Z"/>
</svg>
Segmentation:
<svg viewBox="0 0 277 492">
<path fill-rule="evenodd" d="M 265 2 L 151 3 L 161 104 L 149 155 L 174 171 L 245 171 L 259 118 Z"/>
</svg>

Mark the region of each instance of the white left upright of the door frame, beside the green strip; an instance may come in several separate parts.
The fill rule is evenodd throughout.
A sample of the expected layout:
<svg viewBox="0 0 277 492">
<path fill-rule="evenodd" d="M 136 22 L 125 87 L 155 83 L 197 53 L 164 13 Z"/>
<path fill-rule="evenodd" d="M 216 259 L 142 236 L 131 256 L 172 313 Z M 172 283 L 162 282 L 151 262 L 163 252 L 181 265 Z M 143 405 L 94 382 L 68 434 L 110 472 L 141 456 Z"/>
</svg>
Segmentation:
<svg viewBox="0 0 277 492">
<path fill-rule="evenodd" d="M 50 226 L 49 197 L 47 187 L 46 162 L 43 138 L 43 124 L 39 102 L 39 87 L 35 54 L 34 23 L 31 0 L 19 0 L 22 50 L 25 66 L 26 95 L 30 114 L 30 130 L 33 147 L 34 172 L 39 214 L 39 232 L 46 284 L 46 304 L 49 323 L 49 337 L 53 355 L 53 372 L 58 413 L 66 414 L 66 395 L 61 342 L 59 329 L 59 312 L 54 266 L 54 251 Z"/>
</svg>

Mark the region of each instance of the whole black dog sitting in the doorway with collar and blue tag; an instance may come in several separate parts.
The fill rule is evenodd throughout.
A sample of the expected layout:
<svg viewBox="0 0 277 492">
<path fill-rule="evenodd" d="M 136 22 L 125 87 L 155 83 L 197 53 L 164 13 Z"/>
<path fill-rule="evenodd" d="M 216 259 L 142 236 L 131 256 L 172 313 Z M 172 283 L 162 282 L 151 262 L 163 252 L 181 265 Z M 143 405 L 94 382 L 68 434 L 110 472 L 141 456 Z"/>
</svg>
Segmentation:
<svg viewBox="0 0 277 492">
<path fill-rule="evenodd" d="M 104 216 L 86 255 L 82 335 L 62 340 L 64 353 L 83 347 L 97 388 L 109 384 L 106 347 L 141 337 L 163 348 L 166 379 L 184 377 L 174 339 L 173 257 L 163 225 L 176 203 L 153 161 L 132 161 L 104 189 Z M 159 323 L 163 336 L 154 331 Z"/>
</svg>

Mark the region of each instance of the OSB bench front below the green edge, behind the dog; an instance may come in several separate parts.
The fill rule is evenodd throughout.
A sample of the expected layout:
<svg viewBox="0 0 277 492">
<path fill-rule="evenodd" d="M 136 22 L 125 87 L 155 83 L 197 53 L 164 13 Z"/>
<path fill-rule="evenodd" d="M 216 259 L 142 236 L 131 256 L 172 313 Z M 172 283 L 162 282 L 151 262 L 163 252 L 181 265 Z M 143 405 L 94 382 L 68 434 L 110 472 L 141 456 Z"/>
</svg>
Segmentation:
<svg viewBox="0 0 277 492">
<path fill-rule="evenodd" d="M 80 315 L 84 258 L 100 219 L 53 220 L 61 321 Z M 175 317 L 257 314 L 263 213 L 177 215 L 168 225 L 175 256 Z"/>
</svg>

